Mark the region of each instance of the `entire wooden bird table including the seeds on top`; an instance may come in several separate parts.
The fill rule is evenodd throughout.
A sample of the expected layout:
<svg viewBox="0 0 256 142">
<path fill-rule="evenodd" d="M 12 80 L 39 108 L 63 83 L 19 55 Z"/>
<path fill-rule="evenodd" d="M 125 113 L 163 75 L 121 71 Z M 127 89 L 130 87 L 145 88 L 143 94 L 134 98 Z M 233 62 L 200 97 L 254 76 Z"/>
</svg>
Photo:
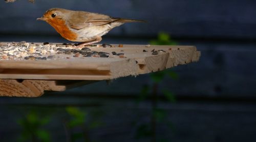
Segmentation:
<svg viewBox="0 0 256 142">
<path fill-rule="evenodd" d="M 195 46 L 0 42 L 0 96 L 39 97 L 196 62 Z"/>
</svg>

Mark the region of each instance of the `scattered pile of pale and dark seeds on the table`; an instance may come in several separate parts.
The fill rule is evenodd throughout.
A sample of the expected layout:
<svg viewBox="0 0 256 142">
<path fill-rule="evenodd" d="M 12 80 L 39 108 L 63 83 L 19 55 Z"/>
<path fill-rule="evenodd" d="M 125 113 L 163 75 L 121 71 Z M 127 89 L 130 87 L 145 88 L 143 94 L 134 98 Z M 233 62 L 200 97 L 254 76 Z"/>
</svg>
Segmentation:
<svg viewBox="0 0 256 142">
<path fill-rule="evenodd" d="M 90 45 L 101 48 L 111 48 L 110 44 Z M 89 47 L 89 46 L 88 46 Z M 121 55 L 113 52 L 97 52 L 90 48 L 84 47 L 82 49 L 75 48 L 74 44 L 50 44 L 45 42 L 43 44 L 22 42 L 0 42 L 0 60 L 56 60 L 60 58 L 70 59 L 76 57 L 102 57 L 108 58 L 113 55 Z M 123 54 L 122 54 L 123 55 Z"/>
</svg>

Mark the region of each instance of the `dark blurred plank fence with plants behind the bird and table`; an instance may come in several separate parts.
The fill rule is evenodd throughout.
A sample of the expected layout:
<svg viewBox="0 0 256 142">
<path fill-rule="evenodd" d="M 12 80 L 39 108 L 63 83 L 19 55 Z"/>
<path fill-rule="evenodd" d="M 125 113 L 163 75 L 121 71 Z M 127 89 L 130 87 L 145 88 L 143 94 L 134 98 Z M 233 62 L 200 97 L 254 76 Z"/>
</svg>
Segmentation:
<svg viewBox="0 0 256 142">
<path fill-rule="evenodd" d="M 70 42 L 50 8 L 147 20 L 101 43 L 196 45 L 200 61 L 40 98 L 0 98 L 1 141 L 256 141 L 256 1 L 0 1 L 0 41 Z"/>
</svg>

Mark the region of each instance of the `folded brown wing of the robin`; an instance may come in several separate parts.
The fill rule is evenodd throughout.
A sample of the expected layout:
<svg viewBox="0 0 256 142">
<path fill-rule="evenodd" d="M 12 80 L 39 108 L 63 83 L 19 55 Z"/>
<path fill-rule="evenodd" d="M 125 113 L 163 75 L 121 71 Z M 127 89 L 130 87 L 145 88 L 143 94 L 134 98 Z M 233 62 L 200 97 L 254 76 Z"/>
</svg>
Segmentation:
<svg viewBox="0 0 256 142">
<path fill-rule="evenodd" d="M 119 18 L 112 18 L 108 15 L 98 13 L 76 11 L 70 15 L 68 24 L 72 29 L 79 30 L 91 26 L 105 25 L 118 19 Z"/>
</svg>

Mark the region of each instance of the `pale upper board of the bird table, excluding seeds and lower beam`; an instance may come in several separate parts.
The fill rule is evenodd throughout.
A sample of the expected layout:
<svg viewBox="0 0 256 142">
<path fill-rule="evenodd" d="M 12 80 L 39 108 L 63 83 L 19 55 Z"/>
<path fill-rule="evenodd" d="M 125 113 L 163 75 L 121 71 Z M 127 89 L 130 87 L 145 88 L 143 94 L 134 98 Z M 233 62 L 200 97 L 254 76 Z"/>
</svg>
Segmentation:
<svg viewBox="0 0 256 142">
<path fill-rule="evenodd" d="M 123 48 L 92 47 L 91 50 L 110 54 L 111 52 L 124 53 L 126 58 L 0 60 L 0 79 L 108 80 L 157 72 L 178 64 L 198 61 L 200 57 L 200 52 L 195 46 L 123 45 Z M 164 52 L 152 55 L 152 50 Z"/>
</svg>

